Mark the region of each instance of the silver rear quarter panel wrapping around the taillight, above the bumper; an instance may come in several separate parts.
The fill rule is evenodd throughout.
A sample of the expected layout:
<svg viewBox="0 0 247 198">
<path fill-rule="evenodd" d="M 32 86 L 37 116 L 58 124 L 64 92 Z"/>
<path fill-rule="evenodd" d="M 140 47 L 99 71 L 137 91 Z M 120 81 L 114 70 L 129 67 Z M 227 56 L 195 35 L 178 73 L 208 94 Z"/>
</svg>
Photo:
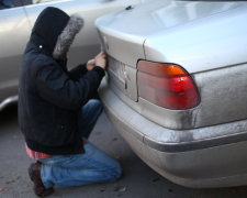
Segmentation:
<svg viewBox="0 0 247 198">
<path fill-rule="evenodd" d="M 201 103 L 193 109 L 151 112 L 149 108 L 147 117 L 159 124 L 166 117 L 164 125 L 171 129 L 246 120 L 246 20 L 245 4 L 147 36 L 146 59 L 181 65 L 193 77 L 201 96 Z"/>
</svg>

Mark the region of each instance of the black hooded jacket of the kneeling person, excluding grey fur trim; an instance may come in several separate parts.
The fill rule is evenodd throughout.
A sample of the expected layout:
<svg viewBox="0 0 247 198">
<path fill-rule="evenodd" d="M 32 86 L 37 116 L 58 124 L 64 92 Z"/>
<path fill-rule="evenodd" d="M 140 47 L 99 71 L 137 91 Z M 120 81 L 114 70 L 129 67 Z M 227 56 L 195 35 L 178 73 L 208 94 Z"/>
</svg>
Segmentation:
<svg viewBox="0 0 247 198">
<path fill-rule="evenodd" d="M 37 18 L 23 56 L 19 84 L 19 124 L 30 148 L 52 155 L 82 153 L 78 112 L 100 85 L 104 70 L 80 65 L 68 72 L 53 57 L 70 16 L 46 8 Z M 83 53 L 83 52 L 81 52 Z"/>
</svg>

